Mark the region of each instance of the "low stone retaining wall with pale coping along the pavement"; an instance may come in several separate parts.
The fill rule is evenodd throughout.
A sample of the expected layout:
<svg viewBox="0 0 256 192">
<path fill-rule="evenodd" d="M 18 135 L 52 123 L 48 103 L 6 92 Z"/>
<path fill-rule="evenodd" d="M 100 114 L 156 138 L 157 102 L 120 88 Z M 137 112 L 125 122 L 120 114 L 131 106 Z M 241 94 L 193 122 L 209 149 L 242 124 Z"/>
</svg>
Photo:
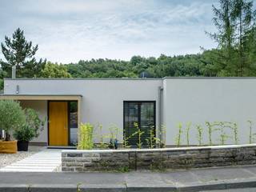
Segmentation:
<svg viewBox="0 0 256 192">
<path fill-rule="evenodd" d="M 256 164 L 256 145 L 152 150 L 62 150 L 62 171 L 175 170 Z"/>
</svg>

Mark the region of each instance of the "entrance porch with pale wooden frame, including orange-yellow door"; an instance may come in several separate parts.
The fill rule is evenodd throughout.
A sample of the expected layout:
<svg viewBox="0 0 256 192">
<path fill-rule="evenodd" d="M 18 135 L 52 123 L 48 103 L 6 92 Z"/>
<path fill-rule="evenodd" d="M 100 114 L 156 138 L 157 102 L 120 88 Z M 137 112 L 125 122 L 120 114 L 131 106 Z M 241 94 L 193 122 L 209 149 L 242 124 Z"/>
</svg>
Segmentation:
<svg viewBox="0 0 256 192">
<path fill-rule="evenodd" d="M 40 118 L 46 119 L 44 130 L 38 138 L 31 141 L 32 144 L 50 147 L 77 145 L 81 95 L 3 94 L 0 99 L 18 101 L 22 108 L 34 109 L 38 111 Z"/>
</svg>

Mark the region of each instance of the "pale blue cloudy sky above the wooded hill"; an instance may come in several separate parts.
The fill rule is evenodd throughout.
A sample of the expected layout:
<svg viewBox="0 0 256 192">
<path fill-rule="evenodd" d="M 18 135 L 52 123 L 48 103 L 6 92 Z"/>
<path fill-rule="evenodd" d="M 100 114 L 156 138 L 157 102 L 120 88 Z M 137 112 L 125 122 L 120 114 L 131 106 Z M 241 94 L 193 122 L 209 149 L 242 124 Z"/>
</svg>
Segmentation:
<svg viewBox="0 0 256 192">
<path fill-rule="evenodd" d="M 20 27 L 52 62 L 160 54 L 213 48 L 217 0 L 1 0 L 0 42 Z M 2 53 L 0 58 L 3 58 Z"/>
</svg>

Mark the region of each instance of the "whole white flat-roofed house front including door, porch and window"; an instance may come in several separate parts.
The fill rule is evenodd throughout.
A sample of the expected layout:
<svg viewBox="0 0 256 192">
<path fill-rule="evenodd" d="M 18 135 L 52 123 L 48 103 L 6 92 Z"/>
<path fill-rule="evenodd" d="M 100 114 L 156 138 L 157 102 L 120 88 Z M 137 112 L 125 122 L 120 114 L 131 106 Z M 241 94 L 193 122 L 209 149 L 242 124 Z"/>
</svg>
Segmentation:
<svg viewBox="0 0 256 192">
<path fill-rule="evenodd" d="M 255 86 L 256 78 L 10 78 L 5 79 L 0 98 L 17 100 L 46 118 L 44 130 L 33 142 L 47 146 L 76 145 L 81 122 L 94 125 L 94 142 L 114 130 L 119 143 L 127 138 L 135 145 L 134 123 L 138 123 L 144 132 L 142 142 L 154 133 L 167 146 L 175 145 L 178 124 L 181 144 L 186 145 L 190 124 L 190 144 L 197 145 L 198 126 L 202 142 L 207 143 L 206 122 L 235 122 L 239 143 L 248 143 L 250 126 L 254 131 L 256 122 Z M 233 143 L 234 130 L 224 131 L 226 143 Z M 213 133 L 215 143 L 220 134 Z"/>
</svg>

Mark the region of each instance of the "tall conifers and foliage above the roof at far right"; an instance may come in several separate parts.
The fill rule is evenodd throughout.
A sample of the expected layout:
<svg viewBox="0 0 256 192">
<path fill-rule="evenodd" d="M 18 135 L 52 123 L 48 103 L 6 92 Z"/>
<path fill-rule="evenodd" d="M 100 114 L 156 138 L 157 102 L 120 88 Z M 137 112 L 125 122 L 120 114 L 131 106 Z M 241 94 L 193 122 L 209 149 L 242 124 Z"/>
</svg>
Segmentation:
<svg viewBox="0 0 256 192">
<path fill-rule="evenodd" d="M 207 73 L 218 76 L 254 76 L 255 10 L 247 0 L 219 0 L 213 6 L 213 22 L 217 32 L 210 37 L 218 43 L 218 49 L 208 52 Z"/>
</svg>

